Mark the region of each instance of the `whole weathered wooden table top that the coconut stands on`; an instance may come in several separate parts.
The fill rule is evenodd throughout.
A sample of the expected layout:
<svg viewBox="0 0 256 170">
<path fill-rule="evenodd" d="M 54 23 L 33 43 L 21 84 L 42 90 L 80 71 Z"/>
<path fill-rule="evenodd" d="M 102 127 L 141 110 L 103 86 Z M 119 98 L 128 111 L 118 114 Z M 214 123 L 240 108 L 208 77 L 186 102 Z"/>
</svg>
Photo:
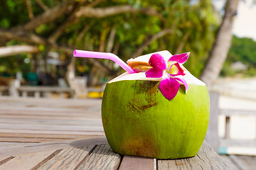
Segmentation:
<svg viewBox="0 0 256 170">
<path fill-rule="evenodd" d="M 189 159 L 112 152 L 102 129 L 100 102 L 0 98 L 0 170 L 230 169 L 206 142 Z"/>
</svg>

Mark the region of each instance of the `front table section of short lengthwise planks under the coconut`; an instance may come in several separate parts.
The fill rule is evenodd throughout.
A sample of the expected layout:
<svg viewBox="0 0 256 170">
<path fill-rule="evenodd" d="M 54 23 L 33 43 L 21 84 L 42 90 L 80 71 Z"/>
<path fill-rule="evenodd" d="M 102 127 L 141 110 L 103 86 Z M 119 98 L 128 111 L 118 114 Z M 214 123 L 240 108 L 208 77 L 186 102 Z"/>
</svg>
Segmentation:
<svg viewBox="0 0 256 170">
<path fill-rule="evenodd" d="M 196 157 L 188 159 L 122 157 L 112 152 L 108 144 L 79 144 L 81 146 L 70 143 L 65 149 L 0 157 L 0 169 L 230 169 L 206 142 Z"/>
</svg>

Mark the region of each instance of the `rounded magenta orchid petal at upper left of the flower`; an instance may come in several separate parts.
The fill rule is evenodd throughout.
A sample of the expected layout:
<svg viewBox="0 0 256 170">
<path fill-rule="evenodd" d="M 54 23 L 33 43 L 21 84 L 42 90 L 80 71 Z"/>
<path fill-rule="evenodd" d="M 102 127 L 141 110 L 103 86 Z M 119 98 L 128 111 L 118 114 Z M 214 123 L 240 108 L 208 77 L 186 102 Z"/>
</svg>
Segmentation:
<svg viewBox="0 0 256 170">
<path fill-rule="evenodd" d="M 149 64 L 151 65 L 151 67 L 154 67 L 156 69 L 167 69 L 167 63 L 164 60 L 164 57 L 159 55 L 159 54 L 154 54 L 151 55 L 150 59 L 149 59 Z"/>
</svg>

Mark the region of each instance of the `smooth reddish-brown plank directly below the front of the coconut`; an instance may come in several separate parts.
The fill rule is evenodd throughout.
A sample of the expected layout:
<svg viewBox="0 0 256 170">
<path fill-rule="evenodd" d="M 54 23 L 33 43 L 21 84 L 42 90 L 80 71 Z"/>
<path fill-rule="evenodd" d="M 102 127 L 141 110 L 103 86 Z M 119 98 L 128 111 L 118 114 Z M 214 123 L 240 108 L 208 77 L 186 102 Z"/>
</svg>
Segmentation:
<svg viewBox="0 0 256 170">
<path fill-rule="evenodd" d="M 154 159 L 124 155 L 119 170 L 128 169 L 154 170 Z"/>
</svg>

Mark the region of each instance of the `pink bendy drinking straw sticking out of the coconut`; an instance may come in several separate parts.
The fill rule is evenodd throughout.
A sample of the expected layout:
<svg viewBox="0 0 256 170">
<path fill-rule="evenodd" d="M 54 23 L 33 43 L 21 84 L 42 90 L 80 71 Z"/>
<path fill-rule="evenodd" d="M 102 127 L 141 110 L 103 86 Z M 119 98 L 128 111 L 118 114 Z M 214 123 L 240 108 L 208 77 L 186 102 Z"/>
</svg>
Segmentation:
<svg viewBox="0 0 256 170">
<path fill-rule="evenodd" d="M 125 71 L 129 74 L 136 73 L 134 70 L 129 67 L 123 60 L 121 60 L 117 55 L 114 55 L 110 52 L 92 52 L 92 51 L 85 51 L 85 50 L 74 50 L 73 52 L 74 57 L 85 57 L 85 58 L 101 58 L 101 59 L 108 59 L 116 62 L 120 67 L 122 67 Z"/>
</svg>

